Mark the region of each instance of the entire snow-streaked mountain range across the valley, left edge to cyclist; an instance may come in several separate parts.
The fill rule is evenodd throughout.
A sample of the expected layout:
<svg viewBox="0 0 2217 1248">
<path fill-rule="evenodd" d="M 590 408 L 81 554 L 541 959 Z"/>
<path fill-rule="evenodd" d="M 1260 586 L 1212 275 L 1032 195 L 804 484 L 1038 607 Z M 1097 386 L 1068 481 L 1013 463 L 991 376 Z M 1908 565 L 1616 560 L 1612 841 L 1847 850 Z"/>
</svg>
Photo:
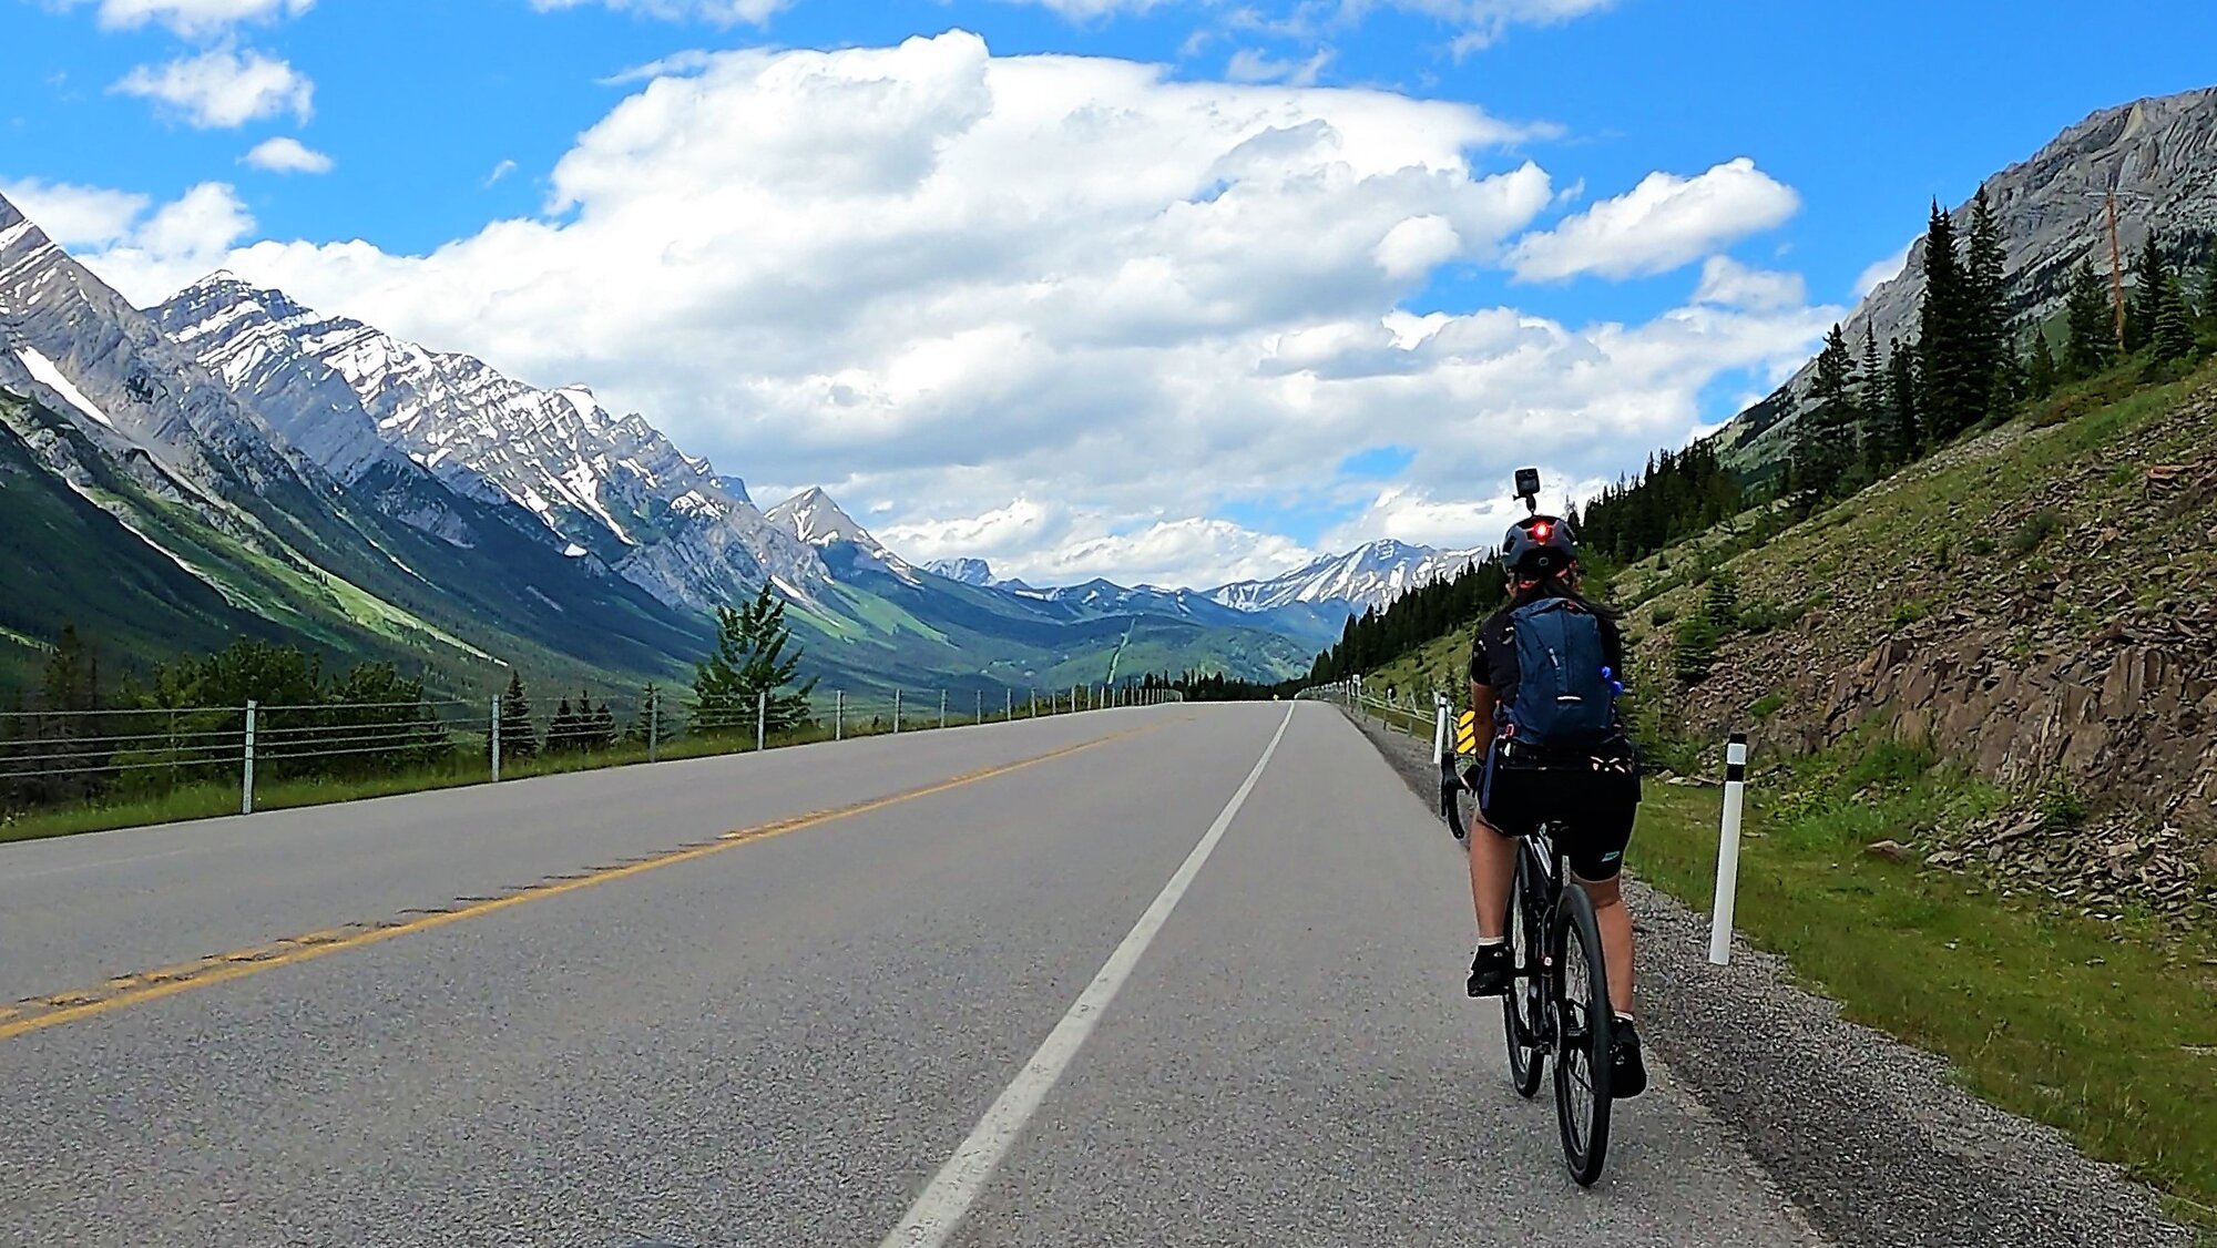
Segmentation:
<svg viewBox="0 0 2217 1248">
<path fill-rule="evenodd" d="M 807 665 L 858 685 L 1284 678 L 1348 614 L 1459 556 L 1375 543 L 1219 590 L 1035 590 L 916 565 L 823 490 L 747 485 L 583 386 L 217 273 L 137 310 L 0 200 L 0 685 L 64 621 L 126 661 L 237 636 L 461 687 L 683 678 L 705 610 L 765 581 Z"/>
</svg>

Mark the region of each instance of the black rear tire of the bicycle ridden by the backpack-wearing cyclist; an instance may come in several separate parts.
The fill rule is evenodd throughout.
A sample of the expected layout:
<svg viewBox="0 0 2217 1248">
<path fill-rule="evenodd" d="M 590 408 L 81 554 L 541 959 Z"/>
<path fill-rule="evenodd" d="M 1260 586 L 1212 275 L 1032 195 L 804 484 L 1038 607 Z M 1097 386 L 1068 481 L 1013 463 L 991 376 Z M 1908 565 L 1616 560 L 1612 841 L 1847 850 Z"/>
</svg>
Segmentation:
<svg viewBox="0 0 2217 1248">
<path fill-rule="evenodd" d="M 1610 971 L 1601 955 L 1594 902 L 1576 882 L 1563 887 L 1547 942 L 1554 951 L 1556 1006 L 1554 1117 L 1570 1177 L 1590 1188 L 1610 1155 L 1610 1040 L 1616 1011 L 1610 1009 Z"/>
</svg>

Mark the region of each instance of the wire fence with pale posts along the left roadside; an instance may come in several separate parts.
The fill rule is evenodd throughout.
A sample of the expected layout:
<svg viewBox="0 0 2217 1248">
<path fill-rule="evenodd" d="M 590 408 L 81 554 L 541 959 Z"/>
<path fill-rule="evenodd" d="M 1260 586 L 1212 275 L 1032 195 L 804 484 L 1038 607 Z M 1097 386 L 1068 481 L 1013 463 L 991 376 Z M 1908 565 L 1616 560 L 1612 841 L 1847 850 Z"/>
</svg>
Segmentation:
<svg viewBox="0 0 2217 1248">
<path fill-rule="evenodd" d="M 647 694 L 619 714 L 563 698 L 528 709 L 501 698 L 237 707 L 0 712 L 0 825 L 27 814 L 124 805 L 233 787 L 253 814 L 257 787 L 286 780 L 501 780 L 552 769 L 734 754 L 1184 700 L 1175 689 L 891 689 L 698 700 Z"/>
</svg>

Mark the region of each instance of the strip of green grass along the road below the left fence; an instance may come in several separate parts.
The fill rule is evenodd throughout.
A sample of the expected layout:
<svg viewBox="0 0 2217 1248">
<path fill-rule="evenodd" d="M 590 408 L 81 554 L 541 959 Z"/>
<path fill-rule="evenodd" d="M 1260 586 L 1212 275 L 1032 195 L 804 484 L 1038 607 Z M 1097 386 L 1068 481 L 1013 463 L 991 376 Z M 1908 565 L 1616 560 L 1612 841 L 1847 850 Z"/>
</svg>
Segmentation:
<svg viewBox="0 0 2217 1248">
<path fill-rule="evenodd" d="M 1040 718 L 1051 714 L 1071 712 L 1040 712 Z M 936 716 L 933 716 L 936 718 Z M 1031 718 L 1018 714 L 1015 718 Z M 973 720 L 971 716 L 947 716 L 947 727 L 967 727 L 971 723 L 1002 723 L 1000 716 L 987 716 L 984 720 Z M 902 732 L 936 732 L 938 723 L 931 725 L 907 725 Z M 873 720 L 854 720 L 845 727 L 845 738 L 862 736 L 887 736 L 891 725 L 880 716 Z M 820 740 L 831 740 L 831 729 L 827 725 L 814 725 L 800 732 L 776 734 L 769 738 L 769 749 L 783 749 L 787 745 L 814 745 Z M 479 743 L 483 749 L 483 743 Z M 734 736 L 712 736 L 712 738 L 681 738 L 663 743 L 658 758 L 663 763 L 676 763 L 683 758 L 716 758 L 725 754 L 754 754 L 754 734 Z M 623 743 L 614 749 L 599 749 L 592 754 L 563 754 L 552 758 L 530 758 L 530 760 L 503 760 L 501 782 L 528 780 L 532 776 L 563 776 L 570 771 L 599 771 L 605 767 L 636 767 L 647 763 L 647 747 L 643 743 Z M 366 798 L 390 798 L 397 794 L 426 794 L 435 789 L 463 789 L 470 785 L 492 782 L 490 763 L 483 758 L 452 758 L 437 767 L 421 767 L 410 771 L 397 771 L 390 776 L 364 776 L 364 778 L 293 778 L 273 780 L 259 778 L 255 782 L 255 811 L 282 811 L 299 807 L 321 807 L 333 802 L 359 802 Z M 222 780 L 191 782 L 175 789 L 149 796 L 118 796 L 98 802 L 84 802 L 73 807 L 60 807 L 49 811 L 29 811 L 0 816 L 0 845 L 16 840 L 44 840 L 53 836 L 78 836 L 86 831 L 113 831 L 124 827 L 155 827 L 168 822 L 191 822 L 204 818 L 222 818 L 239 814 L 239 776 L 226 776 Z"/>
</svg>

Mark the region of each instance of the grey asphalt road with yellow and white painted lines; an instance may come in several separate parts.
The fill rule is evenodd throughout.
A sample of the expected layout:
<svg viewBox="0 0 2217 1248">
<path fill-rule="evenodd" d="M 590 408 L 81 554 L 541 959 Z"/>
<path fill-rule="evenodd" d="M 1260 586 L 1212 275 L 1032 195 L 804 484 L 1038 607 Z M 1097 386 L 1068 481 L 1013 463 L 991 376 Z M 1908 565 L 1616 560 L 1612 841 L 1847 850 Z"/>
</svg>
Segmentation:
<svg viewBox="0 0 2217 1248">
<path fill-rule="evenodd" d="M 1239 705 L 0 847 L 0 1244 L 1811 1244 L 1563 1177 L 1441 838 Z"/>
</svg>

